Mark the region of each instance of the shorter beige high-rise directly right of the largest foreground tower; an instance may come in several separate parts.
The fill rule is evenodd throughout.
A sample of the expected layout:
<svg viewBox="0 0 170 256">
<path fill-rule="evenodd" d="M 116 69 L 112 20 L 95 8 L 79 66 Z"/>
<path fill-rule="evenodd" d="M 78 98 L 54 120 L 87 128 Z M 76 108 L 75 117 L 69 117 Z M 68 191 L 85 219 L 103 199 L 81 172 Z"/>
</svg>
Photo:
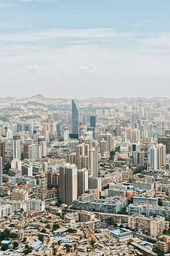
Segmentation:
<svg viewBox="0 0 170 256">
<path fill-rule="evenodd" d="M 77 196 L 85 194 L 88 190 L 88 171 L 86 169 L 77 171 Z"/>
</svg>

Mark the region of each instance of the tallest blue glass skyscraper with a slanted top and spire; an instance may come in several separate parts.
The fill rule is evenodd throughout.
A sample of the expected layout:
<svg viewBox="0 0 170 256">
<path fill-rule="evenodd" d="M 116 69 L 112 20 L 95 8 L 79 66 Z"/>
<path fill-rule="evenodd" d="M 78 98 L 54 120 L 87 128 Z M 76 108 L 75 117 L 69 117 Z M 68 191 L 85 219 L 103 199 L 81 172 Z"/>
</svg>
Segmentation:
<svg viewBox="0 0 170 256">
<path fill-rule="evenodd" d="M 72 99 L 72 137 L 79 137 L 79 101 Z"/>
</svg>

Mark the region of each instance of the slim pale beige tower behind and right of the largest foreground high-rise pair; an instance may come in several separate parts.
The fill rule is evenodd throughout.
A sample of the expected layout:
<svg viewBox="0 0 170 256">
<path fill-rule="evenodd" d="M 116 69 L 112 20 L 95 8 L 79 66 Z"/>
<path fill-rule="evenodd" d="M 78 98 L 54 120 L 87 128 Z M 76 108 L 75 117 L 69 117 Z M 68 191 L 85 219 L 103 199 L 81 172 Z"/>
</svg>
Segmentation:
<svg viewBox="0 0 170 256">
<path fill-rule="evenodd" d="M 98 177 L 98 150 L 95 148 L 89 150 L 89 174 Z"/>
</svg>

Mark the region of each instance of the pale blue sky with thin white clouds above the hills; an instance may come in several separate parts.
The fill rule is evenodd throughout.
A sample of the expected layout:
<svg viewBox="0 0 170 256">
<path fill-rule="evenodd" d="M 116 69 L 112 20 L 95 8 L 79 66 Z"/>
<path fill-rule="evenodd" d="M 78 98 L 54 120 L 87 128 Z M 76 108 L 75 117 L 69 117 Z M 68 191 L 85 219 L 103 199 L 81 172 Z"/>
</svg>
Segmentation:
<svg viewBox="0 0 170 256">
<path fill-rule="evenodd" d="M 0 0 L 0 97 L 170 98 L 170 0 Z"/>
</svg>

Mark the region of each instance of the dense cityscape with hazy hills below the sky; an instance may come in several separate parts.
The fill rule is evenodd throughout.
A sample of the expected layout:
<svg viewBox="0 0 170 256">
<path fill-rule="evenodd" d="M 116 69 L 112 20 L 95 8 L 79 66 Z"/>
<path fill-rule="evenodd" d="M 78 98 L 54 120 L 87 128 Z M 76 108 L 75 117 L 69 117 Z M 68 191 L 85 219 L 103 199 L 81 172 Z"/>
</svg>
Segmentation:
<svg viewBox="0 0 170 256">
<path fill-rule="evenodd" d="M 169 256 L 170 99 L 0 99 L 0 255 Z"/>
</svg>

